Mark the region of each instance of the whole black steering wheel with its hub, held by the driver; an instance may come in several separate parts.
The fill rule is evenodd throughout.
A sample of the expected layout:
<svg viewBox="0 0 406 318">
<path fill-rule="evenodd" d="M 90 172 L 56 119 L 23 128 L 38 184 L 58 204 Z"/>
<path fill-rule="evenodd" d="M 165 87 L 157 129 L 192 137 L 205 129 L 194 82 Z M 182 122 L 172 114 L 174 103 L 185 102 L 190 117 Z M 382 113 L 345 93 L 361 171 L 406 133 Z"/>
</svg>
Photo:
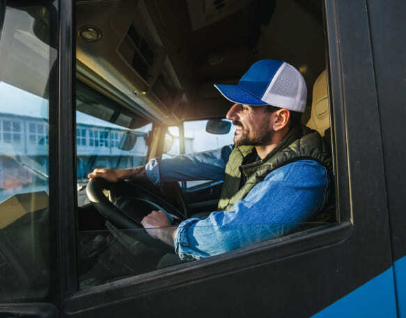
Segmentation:
<svg viewBox="0 0 406 318">
<path fill-rule="evenodd" d="M 111 189 L 111 187 L 114 186 L 121 186 L 123 189 L 131 189 L 131 191 L 127 191 L 127 193 L 132 193 L 132 196 L 121 196 L 115 203 L 111 202 L 104 196 L 103 190 Z M 170 220 L 171 218 L 173 219 L 173 217 L 180 221 L 185 219 L 185 217 L 174 207 L 169 205 L 168 202 L 133 182 L 122 181 L 111 183 L 100 177 L 89 180 L 86 186 L 86 194 L 97 211 L 116 228 L 126 230 L 125 234 L 141 241 L 141 243 L 146 246 L 159 249 L 166 253 L 174 253 L 172 246 L 165 244 L 159 239 L 150 237 L 141 224 L 142 218 L 153 209 L 162 209 L 166 212 L 166 215 L 169 216 Z"/>
</svg>

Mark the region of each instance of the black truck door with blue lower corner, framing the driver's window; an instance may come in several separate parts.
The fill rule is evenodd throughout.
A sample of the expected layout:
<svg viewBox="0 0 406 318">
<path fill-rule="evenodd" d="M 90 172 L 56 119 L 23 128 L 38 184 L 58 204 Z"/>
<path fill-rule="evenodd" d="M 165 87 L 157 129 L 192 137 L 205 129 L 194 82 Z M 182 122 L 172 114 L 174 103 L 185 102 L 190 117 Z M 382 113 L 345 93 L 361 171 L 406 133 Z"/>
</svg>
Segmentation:
<svg viewBox="0 0 406 318">
<path fill-rule="evenodd" d="M 63 302 L 64 317 L 396 317 L 367 2 L 325 1 L 338 221 L 225 255 L 73 288 Z M 72 221 L 65 213 L 64 222 Z M 75 237 L 75 227 L 64 231 Z M 68 255 L 74 251 L 68 239 L 65 247 Z M 63 265 L 70 272 L 67 290 L 75 287 L 72 259 L 65 257 Z"/>
</svg>

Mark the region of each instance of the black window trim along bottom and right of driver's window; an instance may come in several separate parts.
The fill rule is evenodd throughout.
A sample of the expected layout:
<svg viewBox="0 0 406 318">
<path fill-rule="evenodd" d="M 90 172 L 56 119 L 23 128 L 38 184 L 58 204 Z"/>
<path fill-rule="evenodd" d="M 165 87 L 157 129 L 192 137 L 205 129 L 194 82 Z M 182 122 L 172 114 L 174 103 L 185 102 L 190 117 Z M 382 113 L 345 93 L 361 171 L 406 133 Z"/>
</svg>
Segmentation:
<svg viewBox="0 0 406 318">
<path fill-rule="evenodd" d="M 304 232 L 289 234 L 285 237 L 263 241 L 247 248 L 240 248 L 222 255 L 208 257 L 198 262 L 178 264 L 165 269 L 157 269 L 137 276 L 121 278 L 111 283 L 97 285 L 89 289 L 81 290 L 77 296 L 68 300 L 66 308 L 79 310 L 84 305 L 81 303 L 92 303 L 92 305 L 102 305 L 101 294 L 109 292 L 109 301 L 119 301 L 123 290 L 127 294 L 140 294 L 153 292 L 157 289 L 164 289 L 180 285 L 190 280 L 198 280 L 216 276 L 226 271 L 237 269 L 247 269 L 258 263 L 272 262 L 283 257 L 292 256 L 298 253 L 311 251 L 322 246 L 331 246 L 347 237 L 353 231 L 350 219 L 350 199 L 347 143 L 345 132 L 345 113 L 343 113 L 343 96 L 341 86 L 341 65 L 339 55 L 338 29 L 336 16 L 334 15 L 335 3 L 325 1 L 325 28 L 326 32 L 326 57 L 327 63 L 327 83 L 330 92 L 330 121 L 333 153 L 336 154 L 334 160 L 334 171 L 336 177 L 336 210 L 338 211 L 338 223 L 323 225 L 320 228 L 306 230 Z M 327 38 L 327 34 L 329 35 Z M 331 87 L 334 89 L 331 90 Z M 201 119 L 201 118 L 196 118 Z M 208 118 L 209 119 L 209 118 Z M 190 119 L 190 120 L 193 120 Z M 183 136 L 183 122 L 180 125 L 180 135 Z M 161 138 L 164 134 L 161 134 Z M 161 144 L 163 145 L 164 138 Z M 185 149 L 184 141 L 180 142 Z M 181 152 L 182 153 L 182 152 Z M 76 202 L 76 201 L 75 201 Z M 238 260 L 238 262 L 236 262 Z M 149 284 L 146 284 L 148 282 Z"/>
</svg>

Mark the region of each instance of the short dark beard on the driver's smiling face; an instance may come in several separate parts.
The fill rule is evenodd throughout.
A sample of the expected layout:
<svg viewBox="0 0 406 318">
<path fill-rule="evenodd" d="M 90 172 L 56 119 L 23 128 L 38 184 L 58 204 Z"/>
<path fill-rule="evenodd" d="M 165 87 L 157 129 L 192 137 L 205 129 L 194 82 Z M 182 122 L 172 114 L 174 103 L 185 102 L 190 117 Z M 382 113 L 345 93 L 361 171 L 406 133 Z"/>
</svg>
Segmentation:
<svg viewBox="0 0 406 318">
<path fill-rule="evenodd" d="M 247 132 L 244 127 L 242 126 L 241 122 L 235 120 L 233 121 L 233 125 L 242 129 L 240 134 L 237 132 L 234 135 L 234 143 L 236 146 L 240 145 L 253 145 L 253 146 L 260 146 L 260 145 L 267 145 L 271 140 L 272 136 L 274 135 L 273 130 L 268 130 L 267 125 L 256 127 L 255 132 Z"/>
</svg>

